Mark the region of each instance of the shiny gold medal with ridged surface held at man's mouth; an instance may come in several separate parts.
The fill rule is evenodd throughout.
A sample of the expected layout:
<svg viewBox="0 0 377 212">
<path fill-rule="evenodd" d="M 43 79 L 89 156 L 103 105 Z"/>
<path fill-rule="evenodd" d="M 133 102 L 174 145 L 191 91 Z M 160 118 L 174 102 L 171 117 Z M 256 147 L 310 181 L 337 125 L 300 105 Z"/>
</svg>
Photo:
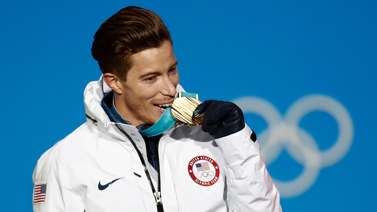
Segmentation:
<svg viewBox="0 0 377 212">
<path fill-rule="evenodd" d="M 202 124 L 204 117 L 192 117 L 196 107 L 202 103 L 197 98 L 198 95 L 196 95 L 196 99 L 192 97 L 176 98 L 170 106 L 170 112 L 172 113 L 173 118 L 182 124 L 190 126 L 198 126 Z"/>
</svg>

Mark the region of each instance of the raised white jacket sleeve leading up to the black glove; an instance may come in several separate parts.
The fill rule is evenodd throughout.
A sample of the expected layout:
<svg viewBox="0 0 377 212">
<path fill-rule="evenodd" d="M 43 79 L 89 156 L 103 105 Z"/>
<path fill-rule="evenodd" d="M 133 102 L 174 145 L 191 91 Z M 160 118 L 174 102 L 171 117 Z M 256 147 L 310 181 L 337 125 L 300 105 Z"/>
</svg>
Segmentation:
<svg viewBox="0 0 377 212">
<path fill-rule="evenodd" d="M 280 195 L 259 155 L 259 144 L 244 129 L 215 139 L 225 160 L 229 211 L 280 212 Z"/>
</svg>

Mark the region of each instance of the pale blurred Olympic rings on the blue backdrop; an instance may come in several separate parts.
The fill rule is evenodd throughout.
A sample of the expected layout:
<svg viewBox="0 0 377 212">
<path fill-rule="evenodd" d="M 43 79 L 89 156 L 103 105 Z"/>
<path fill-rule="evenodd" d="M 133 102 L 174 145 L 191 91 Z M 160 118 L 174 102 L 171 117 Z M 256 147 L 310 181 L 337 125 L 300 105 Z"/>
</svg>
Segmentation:
<svg viewBox="0 0 377 212">
<path fill-rule="evenodd" d="M 258 97 L 241 97 L 233 100 L 247 114 L 257 114 L 267 122 L 267 129 L 258 136 L 261 157 L 266 165 L 276 160 L 283 149 L 297 163 L 303 172 L 290 181 L 274 183 L 284 198 L 303 194 L 317 180 L 322 168 L 332 166 L 348 153 L 354 137 L 354 127 L 347 109 L 334 98 L 325 95 L 307 95 L 288 108 L 285 117 L 268 101 Z M 300 120 L 310 112 L 324 111 L 338 124 L 339 134 L 333 144 L 321 151 L 314 138 L 299 127 Z"/>
</svg>

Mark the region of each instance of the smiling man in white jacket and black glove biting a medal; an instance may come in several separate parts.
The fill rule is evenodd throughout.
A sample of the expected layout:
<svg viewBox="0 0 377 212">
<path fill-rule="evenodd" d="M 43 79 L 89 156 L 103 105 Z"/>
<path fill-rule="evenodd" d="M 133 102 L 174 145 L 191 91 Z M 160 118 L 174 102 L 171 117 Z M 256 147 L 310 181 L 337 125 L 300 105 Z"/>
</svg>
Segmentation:
<svg viewBox="0 0 377 212">
<path fill-rule="evenodd" d="M 101 25 L 92 55 L 103 76 L 84 91 L 87 122 L 38 160 L 34 211 L 281 211 L 235 104 L 200 104 L 200 126 L 166 124 L 184 91 L 172 43 L 161 18 L 143 8 L 123 8 Z"/>
</svg>

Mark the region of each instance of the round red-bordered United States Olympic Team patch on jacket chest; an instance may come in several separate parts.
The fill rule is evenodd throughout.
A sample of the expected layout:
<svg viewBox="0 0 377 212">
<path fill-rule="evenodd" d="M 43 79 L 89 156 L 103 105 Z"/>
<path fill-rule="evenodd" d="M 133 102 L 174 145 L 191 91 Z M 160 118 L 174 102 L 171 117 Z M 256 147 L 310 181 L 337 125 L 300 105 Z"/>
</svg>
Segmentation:
<svg viewBox="0 0 377 212">
<path fill-rule="evenodd" d="M 212 158 L 199 155 L 190 160 L 189 174 L 195 183 L 212 186 L 219 180 L 220 167 Z"/>
</svg>

